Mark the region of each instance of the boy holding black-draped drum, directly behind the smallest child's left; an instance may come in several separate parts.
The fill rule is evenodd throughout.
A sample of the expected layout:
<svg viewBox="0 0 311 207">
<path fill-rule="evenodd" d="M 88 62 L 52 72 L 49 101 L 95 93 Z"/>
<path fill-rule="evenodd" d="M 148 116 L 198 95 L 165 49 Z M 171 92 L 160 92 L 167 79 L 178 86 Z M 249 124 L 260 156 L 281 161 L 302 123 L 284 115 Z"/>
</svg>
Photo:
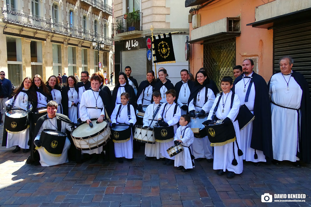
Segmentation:
<svg viewBox="0 0 311 207">
<path fill-rule="evenodd" d="M 179 122 L 181 110 L 178 105 L 174 102 L 176 98 L 176 91 L 174 89 L 170 89 L 166 94 L 166 101 L 159 110 L 158 113 L 158 123 L 162 127 L 174 126 L 174 134 L 178 128 L 177 124 Z M 170 157 L 167 153 L 167 149 L 174 145 L 174 137 L 172 137 L 169 142 L 161 142 L 160 143 L 160 153 L 166 160 L 163 164 L 172 165 L 174 164 L 174 157 Z"/>
</svg>

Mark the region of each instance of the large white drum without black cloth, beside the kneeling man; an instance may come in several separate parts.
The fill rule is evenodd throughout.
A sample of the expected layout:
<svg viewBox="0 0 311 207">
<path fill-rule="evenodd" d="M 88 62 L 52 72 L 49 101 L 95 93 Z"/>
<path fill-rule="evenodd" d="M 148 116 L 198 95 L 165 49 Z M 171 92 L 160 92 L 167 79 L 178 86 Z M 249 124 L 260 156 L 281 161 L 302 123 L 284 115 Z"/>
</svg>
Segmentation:
<svg viewBox="0 0 311 207">
<path fill-rule="evenodd" d="M 105 145 L 110 138 L 110 128 L 106 121 L 96 123 L 97 119 L 91 119 L 93 127 L 82 122 L 71 131 L 71 137 L 77 149 L 93 150 Z"/>
</svg>

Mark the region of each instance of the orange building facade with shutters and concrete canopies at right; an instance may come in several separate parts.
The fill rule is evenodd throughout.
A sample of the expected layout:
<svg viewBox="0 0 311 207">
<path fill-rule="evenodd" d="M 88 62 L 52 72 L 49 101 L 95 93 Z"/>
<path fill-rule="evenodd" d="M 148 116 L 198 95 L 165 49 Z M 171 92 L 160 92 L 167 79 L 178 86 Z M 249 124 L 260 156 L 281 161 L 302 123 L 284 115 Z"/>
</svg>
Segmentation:
<svg viewBox="0 0 311 207">
<path fill-rule="evenodd" d="M 266 3 L 265 3 L 266 2 Z M 186 0 L 190 10 L 190 67 L 206 67 L 220 84 L 234 65 L 251 58 L 254 71 L 269 81 L 282 56 L 311 83 L 311 1 Z"/>
</svg>

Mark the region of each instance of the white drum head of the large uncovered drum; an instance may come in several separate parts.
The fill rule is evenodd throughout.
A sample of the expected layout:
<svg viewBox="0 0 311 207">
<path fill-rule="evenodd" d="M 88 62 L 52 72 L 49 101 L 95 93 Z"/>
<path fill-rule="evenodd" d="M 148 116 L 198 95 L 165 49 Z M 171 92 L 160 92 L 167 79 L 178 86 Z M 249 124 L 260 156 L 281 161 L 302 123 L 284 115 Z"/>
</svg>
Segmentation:
<svg viewBox="0 0 311 207">
<path fill-rule="evenodd" d="M 89 137 L 94 134 L 102 132 L 104 128 L 107 127 L 107 122 L 103 121 L 101 123 L 96 123 L 96 120 L 92 120 L 93 127 L 90 127 L 89 124 L 84 123 L 75 128 L 72 132 L 73 137 Z"/>
</svg>

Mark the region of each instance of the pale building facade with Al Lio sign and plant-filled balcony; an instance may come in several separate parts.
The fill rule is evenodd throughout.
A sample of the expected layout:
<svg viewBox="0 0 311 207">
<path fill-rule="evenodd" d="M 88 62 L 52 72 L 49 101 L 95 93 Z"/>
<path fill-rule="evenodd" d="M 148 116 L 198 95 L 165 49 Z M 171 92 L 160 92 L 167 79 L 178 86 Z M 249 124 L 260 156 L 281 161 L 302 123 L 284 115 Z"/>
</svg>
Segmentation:
<svg viewBox="0 0 311 207">
<path fill-rule="evenodd" d="M 129 65 L 139 84 L 146 80 L 147 71 L 155 70 L 147 45 L 151 25 L 154 35 L 179 31 L 172 34 L 176 63 L 156 68 L 164 67 L 172 83 L 180 80 L 180 70 L 189 68 L 184 49 L 189 36 L 188 9 L 183 4 L 169 0 L 114 0 L 114 24 L 116 74 Z"/>
</svg>

